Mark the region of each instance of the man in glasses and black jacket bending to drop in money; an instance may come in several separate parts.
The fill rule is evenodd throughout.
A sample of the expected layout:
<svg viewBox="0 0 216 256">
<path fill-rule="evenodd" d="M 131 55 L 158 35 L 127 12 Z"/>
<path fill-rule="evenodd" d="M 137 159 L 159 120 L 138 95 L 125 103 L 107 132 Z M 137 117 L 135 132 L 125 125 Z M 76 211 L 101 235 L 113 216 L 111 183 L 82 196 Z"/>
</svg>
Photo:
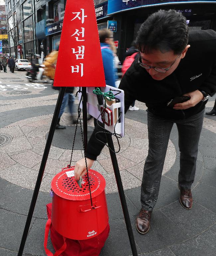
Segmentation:
<svg viewBox="0 0 216 256">
<path fill-rule="evenodd" d="M 174 123 L 180 151 L 179 200 L 185 209 L 192 207 L 191 185 L 205 104 L 216 91 L 216 32 L 189 31 L 181 12 L 159 10 L 141 25 L 136 42 L 139 58 L 123 76 L 119 89 L 125 92 L 125 111 L 134 100 L 145 102 L 148 107 L 149 150 L 141 185 L 142 208 L 136 219 L 137 231 L 145 234 L 158 199 Z M 106 143 L 104 133 L 98 131 L 103 130 L 97 125 L 87 145 L 88 169 L 104 146 L 99 140 Z M 85 159 L 76 163 L 74 173 L 76 180 L 86 173 Z"/>
</svg>

